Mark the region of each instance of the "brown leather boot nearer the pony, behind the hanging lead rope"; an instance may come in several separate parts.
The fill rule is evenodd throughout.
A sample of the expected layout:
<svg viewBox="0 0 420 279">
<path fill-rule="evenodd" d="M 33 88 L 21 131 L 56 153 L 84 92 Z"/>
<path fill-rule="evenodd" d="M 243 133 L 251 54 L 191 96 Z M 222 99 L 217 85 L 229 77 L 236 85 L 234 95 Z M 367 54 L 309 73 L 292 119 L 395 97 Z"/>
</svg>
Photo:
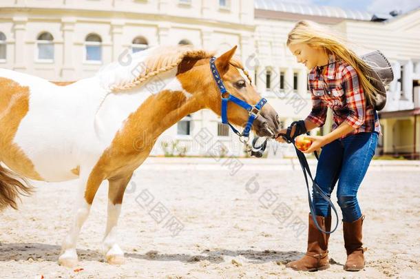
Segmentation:
<svg viewBox="0 0 420 279">
<path fill-rule="evenodd" d="M 331 216 L 322 217 L 316 216 L 319 227 L 324 231 L 330 231 L 331 229 Z M 306 255 L 289 262 L 286 267 L 295 269 L 297 271 L 317 271 L 328 269 L 330 263 L 328 262 L 328 238 L 329 234 L 324 234 L 318 231 L 315 223 L 313 223 L 312 216 L 309 214 L 308 221 L 308 249 Z"/>
</svg>

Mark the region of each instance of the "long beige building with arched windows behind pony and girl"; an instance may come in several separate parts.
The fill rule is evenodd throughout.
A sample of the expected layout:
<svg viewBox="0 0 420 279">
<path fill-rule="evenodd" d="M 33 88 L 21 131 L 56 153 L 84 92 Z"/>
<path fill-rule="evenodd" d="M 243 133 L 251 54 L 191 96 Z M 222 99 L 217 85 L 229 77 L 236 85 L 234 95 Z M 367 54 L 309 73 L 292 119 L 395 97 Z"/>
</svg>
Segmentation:
<svg viewBox="0 0 420 279">
<path fill-rule="evenodd" d="M 0 67 L 52 81 L 92 76 L 102 65 L 154 45 L 189 43 L 219 53 L 238 45 L 258 90 L 285 126 L 311 110 L 307 72 L 286 49 L 286 34 L 298 19 L 334 25 L 368 46 L 361 53 L 379 49 L 392 61 L 396 79 L 380 114 L 381 150 L 420 151 L 420 119 L 414 117 L 420 107 L 419 9 L 374 22 L 368 12 L 271 0 L 2 0 L 0 15 Z M 198 134 L 211 140 L 203 146 Z M 162 134 L 167 145 L 158 143 L 152 154 L 205 155 L 216 141 L 231 154 L 244 154 L 220 118 L 203 110 Z M 271 145 L 271 156 L 292 154 L 284 151 Z"/>
</svg>

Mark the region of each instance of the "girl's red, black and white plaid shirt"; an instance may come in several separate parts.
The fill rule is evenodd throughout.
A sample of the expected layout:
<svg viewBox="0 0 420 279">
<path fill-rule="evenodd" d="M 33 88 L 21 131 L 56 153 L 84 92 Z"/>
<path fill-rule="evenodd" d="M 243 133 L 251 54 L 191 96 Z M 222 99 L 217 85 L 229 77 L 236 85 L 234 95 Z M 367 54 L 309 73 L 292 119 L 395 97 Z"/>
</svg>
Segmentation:
<svg viewBox="0 0 420 279">
<path fill-rule="evenodd" d="M 321 127 L 325 123 L 327 108 L 330 107 L 333 111 L 333 130 L 346 122 L 355 130 L 345 136 L 360 132 L 380 133 L 379 119 L 375 118 L 372 105 L 366 105 L 366 96 L 359 86 L 355 68 L 344 61 L 334 61 L 335 57 L 330 56 L 328 63 L 332 64 L 326 66 L 324 76 L 317 72 L 316 67 L 308 74 L 312 111 L 306 120 Z"/>
</svg>

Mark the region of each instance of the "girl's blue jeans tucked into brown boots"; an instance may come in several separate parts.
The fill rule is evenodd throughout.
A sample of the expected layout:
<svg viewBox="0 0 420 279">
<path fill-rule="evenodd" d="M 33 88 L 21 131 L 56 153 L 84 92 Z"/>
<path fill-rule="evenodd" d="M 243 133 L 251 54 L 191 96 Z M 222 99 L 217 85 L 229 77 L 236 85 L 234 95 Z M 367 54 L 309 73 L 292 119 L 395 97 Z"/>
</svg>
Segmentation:
<svg viewBox="0 0 420 279">
<path fill-rule="evenodd" d="M 361 132 L 339 138 L 322 148 L 315 182 L 330 196 L 338 180 L 337 199 L 345 222 L 361 217 L 357 190 L 375 154 L 377 141 L 377 132 Z M 329 216 L 330 206 L 324 198 L 315 190 L 312 197 L 315 214 Z"/>
</svg>

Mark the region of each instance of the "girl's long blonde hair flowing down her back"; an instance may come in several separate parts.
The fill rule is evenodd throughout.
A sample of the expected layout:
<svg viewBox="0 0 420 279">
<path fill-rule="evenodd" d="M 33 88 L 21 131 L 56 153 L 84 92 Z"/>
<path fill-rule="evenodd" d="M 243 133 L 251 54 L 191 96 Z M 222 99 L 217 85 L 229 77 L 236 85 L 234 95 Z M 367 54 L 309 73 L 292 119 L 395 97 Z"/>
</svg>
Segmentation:
<svg viewBox="0 0 420 279">
<path fill-rule="evenodd" d="M 313 47 L 323 48 L 328 54 L 334 54 L 355 68 L 361 87 L 366 94 L 366 99 L 369 103 L 372 103 L 376 92 L 375 87 L 370 83 L 370 80 L 374 79 L 370 74 L 372 65 L 368 65 L 353 50 L 346 47 L 346 40 L 339 34 L 313 21 L 299 21 L 288 33 L 286 45 L 296 43 L 307 43 Z"/>
</svg>

